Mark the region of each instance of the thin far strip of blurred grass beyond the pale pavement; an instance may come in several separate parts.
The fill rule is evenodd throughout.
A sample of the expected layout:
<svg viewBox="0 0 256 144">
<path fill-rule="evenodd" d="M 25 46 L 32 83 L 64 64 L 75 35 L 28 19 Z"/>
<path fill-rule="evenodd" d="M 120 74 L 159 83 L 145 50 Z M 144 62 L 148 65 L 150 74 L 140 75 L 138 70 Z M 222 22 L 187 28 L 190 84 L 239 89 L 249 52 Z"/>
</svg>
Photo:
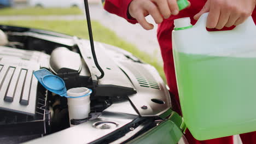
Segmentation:
<svg viewBox="0 0 256 144">
<path fill-rule="evenodd" d="M 81 15 L 82 10 L 79 8 L 24 8 L 24 9 L 12 9 L 4 8 L 0 9 L 0 16 L 16 16 L 16 15 Z"/>
</svg>

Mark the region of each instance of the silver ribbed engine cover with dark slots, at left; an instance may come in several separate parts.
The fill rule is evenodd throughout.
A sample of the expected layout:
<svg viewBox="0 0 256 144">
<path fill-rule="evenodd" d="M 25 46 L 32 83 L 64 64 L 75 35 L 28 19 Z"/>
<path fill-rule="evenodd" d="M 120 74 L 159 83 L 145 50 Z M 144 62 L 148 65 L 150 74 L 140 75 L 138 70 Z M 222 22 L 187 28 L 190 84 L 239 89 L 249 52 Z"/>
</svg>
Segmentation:
<svg viewBox="0 0 256 144">
<path fill-rule="evenodd" d="M 0 109 L 34 116 L 38 82 L 33 71 L 40 69 L 40 64 L 20 59 L 20 50 L 14 52 L 15 49 L 3 48 L 17 56 L 2 55 L 0 61 Z"/>
</svg>

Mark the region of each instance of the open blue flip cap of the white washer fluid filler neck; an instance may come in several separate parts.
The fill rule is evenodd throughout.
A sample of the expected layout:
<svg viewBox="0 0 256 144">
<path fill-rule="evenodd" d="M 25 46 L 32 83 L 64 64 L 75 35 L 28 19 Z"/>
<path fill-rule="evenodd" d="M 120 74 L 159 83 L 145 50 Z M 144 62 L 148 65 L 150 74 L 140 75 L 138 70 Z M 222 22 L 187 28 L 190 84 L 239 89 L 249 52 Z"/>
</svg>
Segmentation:
<svg viewBox="0 0 256 144">
<path fill-rule="evenodd" d="M 46 69 L 34 71 L 37 80 L 49 91 L 59 94 L 61 97 L 67 97 L 67 88 L 65 82 Z"/>
</svg>

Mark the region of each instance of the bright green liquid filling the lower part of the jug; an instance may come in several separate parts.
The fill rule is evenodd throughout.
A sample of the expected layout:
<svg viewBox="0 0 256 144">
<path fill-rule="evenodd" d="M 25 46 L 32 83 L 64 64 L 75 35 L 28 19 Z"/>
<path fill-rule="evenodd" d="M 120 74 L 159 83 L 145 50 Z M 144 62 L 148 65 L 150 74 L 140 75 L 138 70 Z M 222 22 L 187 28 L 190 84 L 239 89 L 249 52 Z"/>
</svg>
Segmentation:
<svg viewBox="0 0 256 144">
<path fill-rule="evenodd" d="M 184 121 L 196 139 L 256 130 L 256 57 L 174 57 Z"/>
</svg>

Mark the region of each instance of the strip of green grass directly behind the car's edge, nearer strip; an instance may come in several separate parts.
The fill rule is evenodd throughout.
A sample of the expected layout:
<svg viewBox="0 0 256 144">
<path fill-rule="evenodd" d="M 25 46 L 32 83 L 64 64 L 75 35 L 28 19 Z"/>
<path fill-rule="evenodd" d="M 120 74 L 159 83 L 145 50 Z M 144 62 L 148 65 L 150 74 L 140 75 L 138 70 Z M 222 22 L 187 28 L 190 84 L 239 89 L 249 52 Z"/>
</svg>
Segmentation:
<svg viewBox="0 0 256 144">
<path fill-rule="evenodd" d="M 80 38 L 89 39 L 88 29 L 86 27 L 86 21 L 74 20 L 56 20 L 56 21 L 43 21 L 43 20 L 31 20 L 31 21 L 3 21 L 0 22 L 2 25 L 15 25 L 23 27 L 32 27 L 40 29 L 48 29 L 55 32 L 65 33 L 69 35 L 76 35 Z M 161 65 L 158 64 L 156 58 L 149 56 L 147 53 L 139 51 L 133 44 L 127 43 L 120 39 L 113 31 L 102 26 L 97 21 L 92 21 L 92 33 L 94 34 L 94 40 L 102 43 L 114 45 L 133 53 L 142 61 L 153 65 L 158 71 L 161 77 L 165 80 L 164 71 Z"/>
</svg>

